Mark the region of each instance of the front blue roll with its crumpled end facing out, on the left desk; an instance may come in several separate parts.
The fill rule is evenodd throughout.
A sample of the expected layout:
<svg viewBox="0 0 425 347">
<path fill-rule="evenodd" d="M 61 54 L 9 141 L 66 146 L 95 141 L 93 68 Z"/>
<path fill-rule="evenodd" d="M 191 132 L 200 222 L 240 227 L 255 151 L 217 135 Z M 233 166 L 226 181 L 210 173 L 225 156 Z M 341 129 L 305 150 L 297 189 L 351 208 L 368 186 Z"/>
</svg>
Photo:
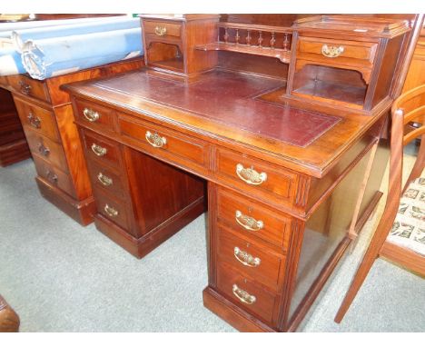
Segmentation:
<svg viewBox="0 0 425 347">
<path fill-rule="evenodd" d="M 140 55 L 143 55 L 143 45 L 142 31 L 138 27 L 29 40 L 24 45 L 22 62 L 31 77 L 44 80 Z"/>
</svg>

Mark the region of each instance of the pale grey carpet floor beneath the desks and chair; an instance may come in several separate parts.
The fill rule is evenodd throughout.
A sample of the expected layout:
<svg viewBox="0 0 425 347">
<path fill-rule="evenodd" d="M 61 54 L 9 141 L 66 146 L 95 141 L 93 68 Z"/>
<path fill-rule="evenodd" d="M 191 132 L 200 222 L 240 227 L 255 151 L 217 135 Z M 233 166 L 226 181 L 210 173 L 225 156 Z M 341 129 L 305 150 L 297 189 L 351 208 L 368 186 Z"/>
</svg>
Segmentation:
<svg viewBox="0 0 425 347">
<path fill-rule="evenodd" d="M 38 192 L 32 160 L 0 168 L 0 293 L 21 332 L 234 332 L 203 307 L 206 215 L 142 260 Z M 425 282 L 378 260 L 341 324 L 333 317 L 376 221 L 365 226 L 301 332 L 424 332 Z"/>
</svg>

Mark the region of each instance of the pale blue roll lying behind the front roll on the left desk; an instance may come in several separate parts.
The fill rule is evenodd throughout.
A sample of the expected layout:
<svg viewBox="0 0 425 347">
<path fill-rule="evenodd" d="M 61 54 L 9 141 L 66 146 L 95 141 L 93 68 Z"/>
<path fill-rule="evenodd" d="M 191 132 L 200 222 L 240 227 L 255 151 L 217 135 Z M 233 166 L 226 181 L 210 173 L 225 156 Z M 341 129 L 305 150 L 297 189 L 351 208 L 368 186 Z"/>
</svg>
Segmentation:
<svg viewBox="0 0 425 347">
<path fill-rule="evenodd" d="M 41 40 L 51 37 L 84 35 L 98 32 L 106 32 L 111 30 L 122 30 L 132 28 L 140 28 L 139 18 L 125 16 L 106 17 L 103 20 L 97 20 L 92 22 L 15 30 L 12 33 L 12 41 L 15 45 L 15 49 L 18 52 L 22 52 L 23 45 L 27 40 Z"/>
</svg>

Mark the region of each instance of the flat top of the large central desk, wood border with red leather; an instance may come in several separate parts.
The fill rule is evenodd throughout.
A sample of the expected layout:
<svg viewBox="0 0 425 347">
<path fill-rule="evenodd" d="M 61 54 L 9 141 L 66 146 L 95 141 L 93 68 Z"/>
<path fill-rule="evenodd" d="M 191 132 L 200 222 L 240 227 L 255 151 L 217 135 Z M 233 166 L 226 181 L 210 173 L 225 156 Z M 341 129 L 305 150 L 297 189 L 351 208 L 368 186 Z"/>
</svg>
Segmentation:
<svg viewBox="0 0 425 347">
<path fill-rule="evenodd" d="M 289 103 L 282 80 L 215 69 L 187 84 L 142 69 L 65 89 L 211 140 L 255 147 L 287 167 L 321 177 L 376 116 Z M 145 116 L 143 116 L 145 118 Z"/>
</svg>

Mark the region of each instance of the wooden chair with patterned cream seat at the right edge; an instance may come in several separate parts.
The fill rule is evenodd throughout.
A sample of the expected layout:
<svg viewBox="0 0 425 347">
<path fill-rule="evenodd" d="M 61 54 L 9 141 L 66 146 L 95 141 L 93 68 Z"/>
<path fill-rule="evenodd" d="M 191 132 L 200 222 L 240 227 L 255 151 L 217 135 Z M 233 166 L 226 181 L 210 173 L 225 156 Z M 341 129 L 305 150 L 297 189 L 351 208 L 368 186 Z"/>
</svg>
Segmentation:
<svg viewBox="0 0 425 347">
<path fill-rule="evenodd" d="M 425 275 L 425 84 L 401 94 L 391 109 L 390 184 L 381 221 L 372 236 L 335 322 L 341 322 L 378 256 Z M 414 127 L 411 124 L 420 124 Z M 402 185 L 403 147 L 420 137 L 420 149 Z"/>
</svg>

